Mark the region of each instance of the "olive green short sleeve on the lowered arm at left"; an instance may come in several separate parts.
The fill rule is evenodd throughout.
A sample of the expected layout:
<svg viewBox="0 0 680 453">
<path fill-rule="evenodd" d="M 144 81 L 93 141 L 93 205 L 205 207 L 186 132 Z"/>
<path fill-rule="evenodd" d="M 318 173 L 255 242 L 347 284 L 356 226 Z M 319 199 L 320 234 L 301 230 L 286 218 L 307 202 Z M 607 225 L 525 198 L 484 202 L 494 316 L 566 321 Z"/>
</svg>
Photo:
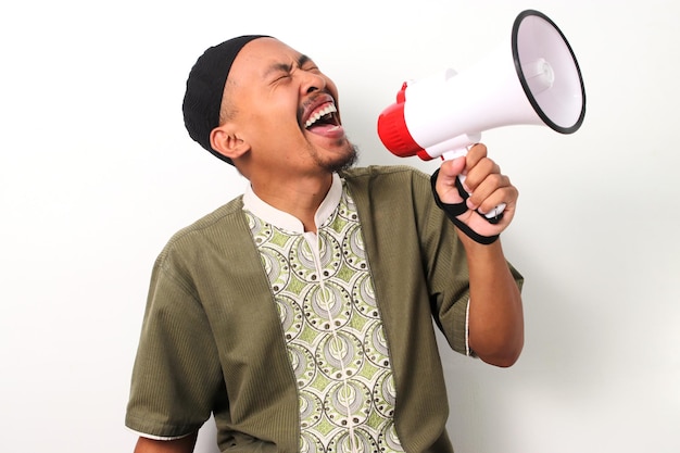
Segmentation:
<svg viewBox="0 0 680 453">
<path fill-rule="evenodd" d="M 198 430 L 224 392 L 217 349 L 194 292 L 156 262 L 125 417 L 143 437 L 174 439 Z"/>
</svg>

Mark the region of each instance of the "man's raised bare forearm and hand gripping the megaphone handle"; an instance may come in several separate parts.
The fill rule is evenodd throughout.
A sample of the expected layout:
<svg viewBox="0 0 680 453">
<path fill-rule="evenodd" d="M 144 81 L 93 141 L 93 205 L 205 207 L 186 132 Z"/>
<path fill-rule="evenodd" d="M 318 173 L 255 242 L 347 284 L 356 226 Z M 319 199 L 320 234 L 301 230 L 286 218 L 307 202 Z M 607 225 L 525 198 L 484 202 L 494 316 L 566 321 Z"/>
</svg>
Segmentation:
<svg viewBox="0 0 680 453">
<path fill-rule="evenodd" d="M 437 178 L 437 193 L 443 203 L 456 204 L 463 199 L 456 188 L 457 175 L 465 173 L 468 210 L 456 219 L 483 237 L 500 235 L 512 222 L 517 189 L 487 158 L 483 144 L 473 147 L 466 158 L 442 163 Z M 487 222 L 476 210 L 489 212 L 505 203 L 498 224 Z M 469 336 L 473 351 L 484 362 L 496 366 L 513 365 L 524 347 L 524 314 L 519 288 L 503 254 L 501 241 L 476 242 L 462 230 L 469 267 Z"/>
</svg>

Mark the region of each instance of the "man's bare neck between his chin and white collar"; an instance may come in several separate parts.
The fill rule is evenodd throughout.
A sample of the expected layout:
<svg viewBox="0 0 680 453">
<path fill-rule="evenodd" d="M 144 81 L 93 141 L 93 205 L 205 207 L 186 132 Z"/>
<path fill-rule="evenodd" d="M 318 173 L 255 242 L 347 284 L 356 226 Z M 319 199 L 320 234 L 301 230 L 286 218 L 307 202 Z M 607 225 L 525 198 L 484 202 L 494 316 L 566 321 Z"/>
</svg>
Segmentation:
<svg viewBox="0 0 680 453">
<path fill-rule="evenodd" d="M 272 179 L 251 179 L 250 184 L 262 201 L 298 218 L 304 225 L 305 231 L 316 232 L 314 216 L 330 190 L 332 174 L 301 177 L 286 184 Z"/>
</svg>

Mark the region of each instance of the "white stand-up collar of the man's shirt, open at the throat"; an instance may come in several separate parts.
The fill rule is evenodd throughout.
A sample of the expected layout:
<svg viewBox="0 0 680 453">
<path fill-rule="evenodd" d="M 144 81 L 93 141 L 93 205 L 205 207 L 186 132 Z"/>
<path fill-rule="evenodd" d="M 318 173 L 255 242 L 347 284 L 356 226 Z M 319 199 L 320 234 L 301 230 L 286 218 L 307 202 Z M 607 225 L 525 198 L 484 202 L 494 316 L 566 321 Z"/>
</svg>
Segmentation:
<svg viewBox="0 0 680 453">
<path fill-rule="evenodd" d="M 337 173 L 333 173 L 330 189 L 314 214 L 314 223 L 317 228 L 324 225 L 324 223 L 336 211 L 338 203 L 340 203 L 341 196 L 342 179 L 340 179 L 340 176 Z M 243 193 L 243 210 L 250 211 L 253 215 L 278 228 L 292 232 L 304 232 L 304 225 L 302 225 L 302 222 L 287 212 L 279 211 L 264 202 L 255 194 L 250 184 L 245 189 L 245 193 Z"/>
</svg>

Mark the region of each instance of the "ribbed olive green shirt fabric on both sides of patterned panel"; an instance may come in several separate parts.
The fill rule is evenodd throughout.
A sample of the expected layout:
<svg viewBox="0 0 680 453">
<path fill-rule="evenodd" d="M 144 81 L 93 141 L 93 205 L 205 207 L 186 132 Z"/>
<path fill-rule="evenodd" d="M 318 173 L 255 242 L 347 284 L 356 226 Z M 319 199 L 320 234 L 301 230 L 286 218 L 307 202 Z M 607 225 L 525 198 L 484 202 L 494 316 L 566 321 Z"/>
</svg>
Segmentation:
<svg viewBox="0 0 680 453">
<path fill-rule="evenodd" d="M 406 452 L 451 452 L 432 316 L 451 347 L 465 353 L 463 248 L 433 203 L 429 176 L 368 167 L 343 177 L 389 342 L 400 440 Z M 181 436 L 211 412 L 222 451 L 299 449 L 294 375 L 240 198 L 179 231 L 156 260 L 126 424 Z"/>
</svg>

